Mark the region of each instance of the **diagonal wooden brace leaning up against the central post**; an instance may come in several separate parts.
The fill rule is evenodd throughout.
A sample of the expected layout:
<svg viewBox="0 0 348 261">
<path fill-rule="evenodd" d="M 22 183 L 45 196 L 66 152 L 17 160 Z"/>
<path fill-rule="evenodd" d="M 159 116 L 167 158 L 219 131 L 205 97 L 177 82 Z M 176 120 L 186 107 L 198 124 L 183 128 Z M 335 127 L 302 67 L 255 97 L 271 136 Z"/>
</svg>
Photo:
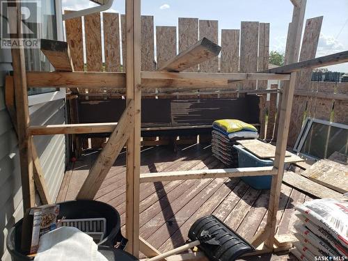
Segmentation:
<svg viewBox="0 0 348 261">
<path fill-rule="evenodd" d="M 128 140 L 129 134 L 134 128 L 134 101 L 129 102 L 127 108 L 122 113 L 118 125 L 107 141 L 105 148 L 95 161 L 95 164 L 88 173 L 88 176 L 82 185 L 77 199 L 93 200 L 98 189 L 102 185 L 107 173 L 120 154 L 123 146 Z"/>
</svg>

